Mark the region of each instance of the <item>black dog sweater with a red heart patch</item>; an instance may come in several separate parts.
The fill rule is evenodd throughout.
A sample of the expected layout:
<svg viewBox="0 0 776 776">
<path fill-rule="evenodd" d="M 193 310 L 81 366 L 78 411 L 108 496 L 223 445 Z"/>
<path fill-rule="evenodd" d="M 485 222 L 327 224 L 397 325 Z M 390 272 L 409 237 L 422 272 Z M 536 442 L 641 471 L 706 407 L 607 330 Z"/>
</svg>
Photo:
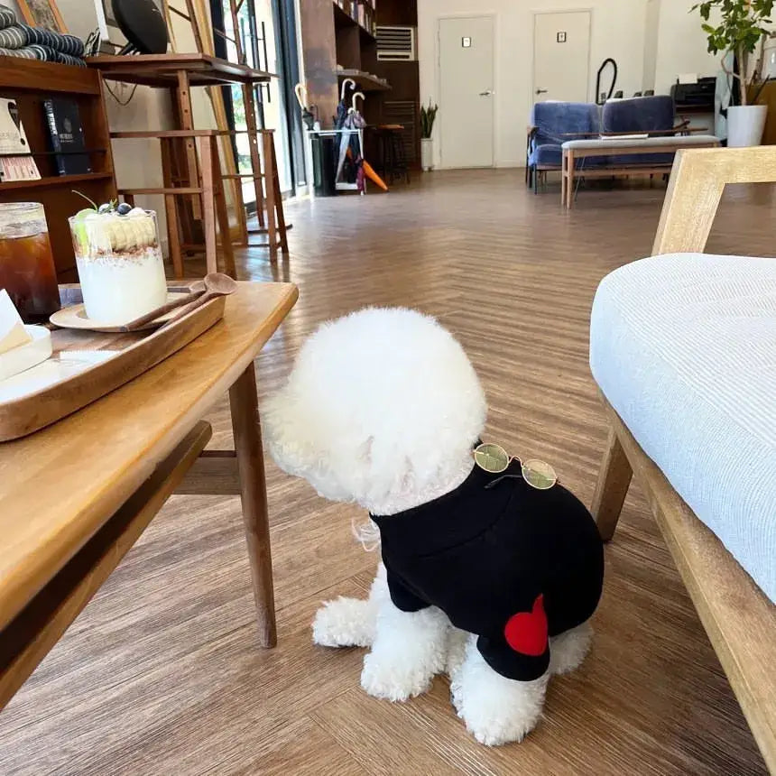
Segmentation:
<svg viewBox="0 0 776 776">
<path fill-rule="evenodd" d="M 532 488 L 518 462 L 506 474 L 474 467 L 454 491 L 372 519 L 393 603 L 405 612 L 438 606 L 479 636 L 494 670 L 528 681 L 548 668 L 548 637 L 596 610 L 604 550 L 590 513 L 566 488 Z"/>
</svg>

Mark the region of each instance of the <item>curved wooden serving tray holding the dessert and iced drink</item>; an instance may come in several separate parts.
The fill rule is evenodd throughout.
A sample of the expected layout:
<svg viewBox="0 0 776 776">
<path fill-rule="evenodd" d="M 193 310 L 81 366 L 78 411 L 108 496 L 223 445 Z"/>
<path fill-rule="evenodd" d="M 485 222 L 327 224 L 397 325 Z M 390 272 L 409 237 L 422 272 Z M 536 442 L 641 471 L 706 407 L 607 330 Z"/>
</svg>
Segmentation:
<svg viewBox="0 0 776 776">
<path fill-rule="evenodd" d="M 180 284 L 168 288 L 189 290 Z M 60 286 L 60 298 L 63 305 L 80 303 L 80 287 Z M 217 324 L 225 308 L 226 297 L 217 297 L 171 326 L 151 332 L 101 334 L 54 329 L 49 361 L 0 382 L 0 442 L 32 434 L 115 391 Z M 9 398 L 22 377 L 29 388 L 20 387 Z"/>
</svg>

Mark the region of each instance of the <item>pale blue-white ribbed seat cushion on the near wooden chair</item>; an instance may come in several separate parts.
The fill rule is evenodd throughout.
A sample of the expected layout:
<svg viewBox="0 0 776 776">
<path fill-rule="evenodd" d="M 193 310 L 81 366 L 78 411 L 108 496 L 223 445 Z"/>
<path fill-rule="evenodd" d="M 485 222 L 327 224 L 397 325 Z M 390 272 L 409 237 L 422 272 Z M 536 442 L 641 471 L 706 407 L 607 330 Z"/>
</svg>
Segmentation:
<svg viewBox="0 0 776 776">
<path fill-rule="evenodd" d="M 673 254 L 607 275 L 590 366 L 644 452 L 776 601 L 776 259 Z"/>
</svg>

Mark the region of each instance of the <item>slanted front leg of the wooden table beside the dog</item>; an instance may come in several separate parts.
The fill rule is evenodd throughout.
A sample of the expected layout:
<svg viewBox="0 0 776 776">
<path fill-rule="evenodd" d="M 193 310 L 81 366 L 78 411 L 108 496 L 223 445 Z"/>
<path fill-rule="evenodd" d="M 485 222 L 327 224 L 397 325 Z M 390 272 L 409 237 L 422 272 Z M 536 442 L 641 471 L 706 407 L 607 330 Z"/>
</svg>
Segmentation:
<svg viewBox="0 0 776 776">
<path fill-rule="evenodd" d="M 273 592 L 273 558 L 267 518 L 267 486 L 264 477 L 262 430 L 256 394 L 256 374 L 251 364 L 229 389 L 232 430 L 235 433 L 240 496 L 243 502 L 245 540 L 251 563 L 254 598 L 263 647 L 277 644 Z"/>
</svg>

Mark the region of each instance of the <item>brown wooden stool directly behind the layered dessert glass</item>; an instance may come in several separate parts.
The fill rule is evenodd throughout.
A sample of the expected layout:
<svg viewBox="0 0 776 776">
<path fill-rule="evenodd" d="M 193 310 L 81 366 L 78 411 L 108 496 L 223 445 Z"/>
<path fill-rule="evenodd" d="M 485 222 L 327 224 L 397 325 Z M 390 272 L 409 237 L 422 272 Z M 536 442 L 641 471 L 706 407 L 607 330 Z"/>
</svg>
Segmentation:
<svg viewBox="0 0 776 776">
<path fill-rule="evenodd" d="M 125 200 L 134 205 L 134 198 L 139 194 L 162 195 L 164 210 L 167 216 L 167 234 L 169 239 L 170 257 L 176 278 L 184 276 L 184 249 L 202 249 L 199 245 L 184 244 L 181 236 L 181 218 L 179 200 L 194 199 L 199 204 L 204 232 L 204 253 L 208 273 L 218 271 L 216 224 L 221 235 L 221 249 L 224 252 L 226 274 L 236 277 L 235 254 L 229 236 L 229 217 L 226 211 L 221 164 L 218 160 L 217 130 L 169 130 L 164 132 L 115 132 L 115 139 L 129 138 L 159 138 L 162 143 L 162 187 L 148 189 L 118 189 Z M 175 185 L 172 160 L 175 153 L 175 143 L 192 141 L 199 150 L 198 185 Z"/>
</svg>

